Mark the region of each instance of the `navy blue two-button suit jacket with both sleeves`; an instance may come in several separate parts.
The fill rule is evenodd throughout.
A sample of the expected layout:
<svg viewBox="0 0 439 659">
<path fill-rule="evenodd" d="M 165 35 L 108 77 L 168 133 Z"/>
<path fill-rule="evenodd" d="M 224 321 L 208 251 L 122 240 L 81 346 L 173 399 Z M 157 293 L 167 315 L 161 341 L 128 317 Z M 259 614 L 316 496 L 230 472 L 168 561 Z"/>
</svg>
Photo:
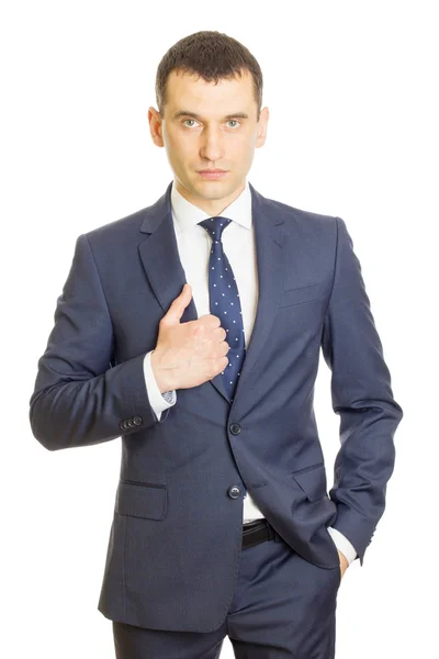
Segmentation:
<svg viewBox="0 0 439 659">
<path fill-rule="evenodd" d="M 218 375 L 178 390 L 158 422 L 144 356 L 185 282 L 170 190 L 78 237 L 30 420 L 49 450 L 122 436 L 102 614 L 209 632 L 234 591 L 243 485 L 306 560 L 339 565 L 331 525 L 362 565 L 384 511 L 403 412 L 345 222 L 267 199 L 250 185 L 259 302 L 234 401 Z M 196 317 L 191 300 L 181 322 Z M 313 410 L 320 347 L 340 416 L 329 493 Z"/>
</svg>

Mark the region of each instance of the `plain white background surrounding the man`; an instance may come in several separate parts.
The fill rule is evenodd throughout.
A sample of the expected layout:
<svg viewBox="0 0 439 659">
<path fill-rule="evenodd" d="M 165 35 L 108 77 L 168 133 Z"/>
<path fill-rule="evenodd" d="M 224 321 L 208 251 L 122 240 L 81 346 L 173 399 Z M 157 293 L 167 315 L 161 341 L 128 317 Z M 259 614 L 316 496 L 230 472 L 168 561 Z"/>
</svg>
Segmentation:
<svg viewBox="0 0 439 659">
<path fill-rule="evenodd" d="M 340 215 L 362 265 L 404 418 L 387 507 L 341 582 L 337 659 L 437 651 L 438 22 L 435 2 L 7 2 L 1 15 L 1 647 L 8 659 L 113 658 L 97 610 L 121 440 L 49 453 L 29 399 L 76 237 L 154 203 L 161 56 L 199 30 L 264 76 L 263 196 Z M 324 360 L 315 409 L 338 450 Z M 4 651 L 5 648 L 9 649 Z M 222 659 L 233 657 L 228 638 Z"/>
</svg>

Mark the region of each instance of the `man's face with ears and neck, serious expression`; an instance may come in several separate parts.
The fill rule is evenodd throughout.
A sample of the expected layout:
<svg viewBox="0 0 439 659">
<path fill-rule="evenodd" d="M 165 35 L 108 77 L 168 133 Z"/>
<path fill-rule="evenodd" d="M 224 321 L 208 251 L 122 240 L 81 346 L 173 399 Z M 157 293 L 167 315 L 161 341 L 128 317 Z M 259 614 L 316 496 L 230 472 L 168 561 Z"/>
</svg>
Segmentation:
<svg viewBox="0 0 439 659">
<path fill-rule="evenodd" d="M 257 122 L 252 78 L 206 82 L 198 76 L 171 71 L 164 119 L 149 108 L 151 137 L 165 146 L 178 191 L 212 215 L 219 214 L 246 185 L 255 148 L 263 145 L 268 109 Z M 246 116 L 241 116 L 241 115 Z M 200 171 L 223 169 L 212 179 Z"/>
</svg>

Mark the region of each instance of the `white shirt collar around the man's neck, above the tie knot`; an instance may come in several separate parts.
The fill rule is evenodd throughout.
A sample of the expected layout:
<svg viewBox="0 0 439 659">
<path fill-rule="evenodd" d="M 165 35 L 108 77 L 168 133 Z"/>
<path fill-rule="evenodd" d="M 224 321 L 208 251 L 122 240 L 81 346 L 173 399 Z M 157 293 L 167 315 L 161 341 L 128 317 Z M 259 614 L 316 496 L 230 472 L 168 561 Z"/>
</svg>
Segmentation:
<svg viewBox="0 0 439 659">
<path fill-rule="evenodd" d="M 177 190 L 176 182 L 172 181 L 171 189 L 171 208 L 172 215 L 177 223 L 178 231 L 185 232 L 192 230 L 199 222 L 212 217 L 202 209 L 199 209 L 193 203 L 184 199 Z M 251 191 L 246 180 L 246 187 L 243 192 L 227 208 L 219 213 L 222 217 L 228 217 L 233 222 L 237 222 L 245 228 L 251 228 Z"/>
</svg>

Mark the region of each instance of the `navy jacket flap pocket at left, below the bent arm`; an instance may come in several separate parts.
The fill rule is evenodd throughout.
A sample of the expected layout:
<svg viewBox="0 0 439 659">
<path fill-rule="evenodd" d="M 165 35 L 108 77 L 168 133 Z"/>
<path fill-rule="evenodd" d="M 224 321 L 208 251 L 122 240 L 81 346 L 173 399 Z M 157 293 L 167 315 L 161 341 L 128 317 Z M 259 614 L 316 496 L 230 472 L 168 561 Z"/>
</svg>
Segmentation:
<svg viewBox="0 0 439 659">
<path fill-rule="evenodd" d="M 168 504 L 164 485 L 134 485 L 121 481 L 117 487 L 115 511 L 121 515 L 162 520 Z"/>
</svg>

